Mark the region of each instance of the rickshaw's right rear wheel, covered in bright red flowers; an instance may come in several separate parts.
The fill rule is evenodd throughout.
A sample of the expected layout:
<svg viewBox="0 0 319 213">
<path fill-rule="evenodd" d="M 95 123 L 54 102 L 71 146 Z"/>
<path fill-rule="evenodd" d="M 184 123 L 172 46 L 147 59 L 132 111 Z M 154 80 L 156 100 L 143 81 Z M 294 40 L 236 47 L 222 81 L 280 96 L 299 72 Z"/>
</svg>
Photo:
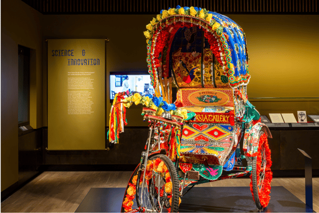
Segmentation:
<svg viewBox="0 0 319 213">
<path fill-rule="evenodd" d="M 252 174 L 250 176 L 250 191 L 259 210 L 266 208 L 270 200 L 270 183 L 273 178 L 271 172 L 271 151 L 267 136 L 261 134 L 258 144 L 258 155 L 252 160 Z"/>
</svg>

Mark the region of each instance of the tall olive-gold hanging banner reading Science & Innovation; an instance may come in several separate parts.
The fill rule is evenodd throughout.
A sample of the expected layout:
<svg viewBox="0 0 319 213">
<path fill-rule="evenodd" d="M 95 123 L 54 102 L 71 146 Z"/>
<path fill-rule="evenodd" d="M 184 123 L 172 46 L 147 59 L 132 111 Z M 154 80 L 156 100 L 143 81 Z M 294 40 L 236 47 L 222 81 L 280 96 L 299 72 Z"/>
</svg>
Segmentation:
<svg viewBox="0 0 319 213">
<path fill-rule="evenodd" d="M 48 150 L 105 149 L 105 39 L 48 39 Z"/>
</svg>

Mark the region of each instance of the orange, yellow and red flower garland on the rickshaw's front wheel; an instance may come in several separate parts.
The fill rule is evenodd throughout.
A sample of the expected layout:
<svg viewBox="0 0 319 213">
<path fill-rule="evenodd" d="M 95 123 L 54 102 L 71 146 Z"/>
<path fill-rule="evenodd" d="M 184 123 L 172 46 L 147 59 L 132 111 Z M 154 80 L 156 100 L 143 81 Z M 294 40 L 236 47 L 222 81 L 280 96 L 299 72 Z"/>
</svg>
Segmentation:
<svg viewBox="0 0 319 213">
<path fill-rule="evenodd" d="M 171 205 L 171 193 L 172 193 L 172 182 L 168 172 L 168 169 L 164 162 L 157 158 L 155 160 L 149 160 L 146 166 L 146 174 L 145 179 L 146 183 L 150 184 L 149 180 L 153 178 L 153 171 L 155 173 L 159 173 L 161 177 L 165 178 L 165 185 L 163 186 L 164 189 L 160 190 L 160 196 L 163 196 L 164 190 L 168 194 L 167 198 L 169 198 L 169 204 Z M 129 182 L 125 199 L 123 201 L 122 207 L 124 208 L 125 212 L 129 212 L 132 210 L 132 206 L 134 204 L 133 200 L 135 199 L 136 194 L 136 185 L 137 185 L 138 175 L 135 175 L 132 179 L 132 183 Z M 143 182 L 143 174 L 141 175 L 140 184 Z M 156 188 L 158 190 L 158 188 Z M 178 205 L 180 204 L 181 200 L 179 198 Z M 170 212 L 170 208 L 167 209 Z"/>
</svg>

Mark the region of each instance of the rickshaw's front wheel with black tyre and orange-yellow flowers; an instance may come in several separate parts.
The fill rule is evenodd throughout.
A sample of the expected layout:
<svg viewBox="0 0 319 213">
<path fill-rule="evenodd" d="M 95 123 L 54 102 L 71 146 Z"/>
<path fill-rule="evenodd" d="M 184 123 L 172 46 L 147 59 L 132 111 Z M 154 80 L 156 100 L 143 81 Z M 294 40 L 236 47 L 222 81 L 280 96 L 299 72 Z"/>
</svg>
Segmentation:
<svg viewBox="0 0 319 213">
<path fill-rule="evenodd" d="M 130 178 L 121 212 L 136 212 L 139 208 L 135 198 L 138 170 L 139 166 Z M 178 212 L 180 199 L 177 173 L 167 156 L 158 154 L 148 160 L 146 171 L 141 172 L 139 197 L 142 203 L 140 212 Z"/>
</svg>

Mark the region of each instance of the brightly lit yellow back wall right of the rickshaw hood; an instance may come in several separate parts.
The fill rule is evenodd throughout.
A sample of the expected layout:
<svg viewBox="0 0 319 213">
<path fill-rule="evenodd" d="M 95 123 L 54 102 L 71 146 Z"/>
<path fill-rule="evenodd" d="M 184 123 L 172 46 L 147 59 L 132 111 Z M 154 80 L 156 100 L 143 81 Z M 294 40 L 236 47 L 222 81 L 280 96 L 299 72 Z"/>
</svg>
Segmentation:
<svg viewBox="0 0 319 213">
<path fill-rule="evenodd" d="M 246 34 L 248 97 L 319 97 L 319 15 L 228 15 Z M 262 115 L 306 110 L 319 99 L 249 99 Z"/>
</svg>

